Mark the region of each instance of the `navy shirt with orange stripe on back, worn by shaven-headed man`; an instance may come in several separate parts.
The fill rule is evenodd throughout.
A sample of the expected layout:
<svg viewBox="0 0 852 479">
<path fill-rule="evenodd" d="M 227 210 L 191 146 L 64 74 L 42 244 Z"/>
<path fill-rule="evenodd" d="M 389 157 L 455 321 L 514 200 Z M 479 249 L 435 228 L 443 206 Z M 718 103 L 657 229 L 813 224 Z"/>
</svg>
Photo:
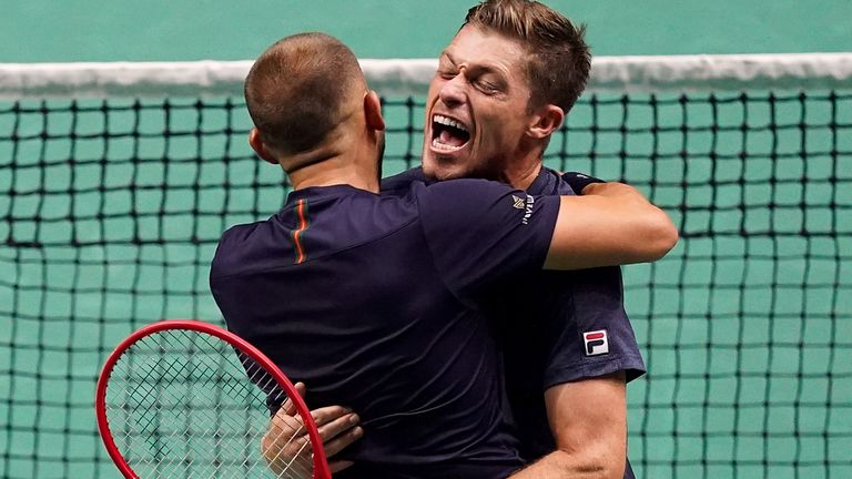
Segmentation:
<svg viewBox="0 0 852 479">
<path fill-rule="evenodd" d="M 335 477 L 504 478 L 523 459 L 478 302 L 540 269 L 558 205 L 481 180 L 300 190 L 224 233 L 211 289 L 310 407 L 362 417 Z"/>
</svg>

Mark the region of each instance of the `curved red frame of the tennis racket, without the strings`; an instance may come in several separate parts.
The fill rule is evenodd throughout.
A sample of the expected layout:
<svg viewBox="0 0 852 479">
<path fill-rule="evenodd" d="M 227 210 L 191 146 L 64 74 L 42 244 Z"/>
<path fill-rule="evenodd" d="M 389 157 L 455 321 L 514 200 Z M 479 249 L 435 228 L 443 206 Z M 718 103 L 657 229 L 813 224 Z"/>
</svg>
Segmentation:
<svg viewBox="0 0 852 479">
<path fill-rule="evenodd" d="M 106 420 L 106 385 L 109 384 L 110 376 L 112 375 L 112 369 L 115 366 L 115 363 L 119 361 L 119 358 L 122 354 L 124 354 L 125 350 L 128 350 L 128 348 L 130 348 L 134 343 L 145 336 L 170 329 L 189 329 L 215 336 L 225 343 L 229 343 L 231 346 L 237 348 L 241 353 L 247 355 L 257 361 L 257 364 L 260 364 L 264 369 L 266 369 L 266 371 L 272 375 L 273 378 L 275 378 L 275 381 L 278 384 L 278 386 L 284 389 L 284 393 L 286 393 L 287 397 L 293 401 L 296 411 L 305 424 L 307 436 L 311 439 L 311 445 L 313 446 L 312 450 L 314 458 L 314 479 L 331 479 L 332 472 L 328 469 L 328 461 L 326 460 L 325 451 L 322 448 L 323 440 L 320 438 L 320 432 L 316 429 L 316 422 L 314 421 L 313 416 L 311 416 L 311 410 L 307 408 L 307 405 L 305 405 L 304 399 L 302 399 L 302 396 L 293 386 L 293 383 L 291 383 L 290 379 L 284 376 L 284 373 L 282 373 L 281 369 L 275 366 L 275 363 L 273 363 L 270 358 L 267 358 L 263 353 L 261 353 L 245 339 L 219 326 L 191 319 L 169 319 L 152 323 L 132 333 L 115 347 L 112 354 L 110 354 L 110 357 L 106 358 L 106 363 L 103 365 L 101 376 L 98 378 L 98 387 L 95 389 L 94 397 L 94 410 L 98 418 L 98 430 L 100 431 L 101 439 L 103 439 L 103 444 L 106 447 L 106 452 L 109 452 L 112 461 L 115 462 L 115 466 L 118 466 L 119 470 L 121 470 L 121 473 L 124 475 L 125 478 L 140 479 L 140 477 L 128 465 L 128 461 L 124 460 L 124 457 L 121 455 L 121 451 L 119 451 L 118 446 L 115 446 L 115 441 L 112 438 L 112 432 L 110 432 L 110 425 Z"/>
</svg>

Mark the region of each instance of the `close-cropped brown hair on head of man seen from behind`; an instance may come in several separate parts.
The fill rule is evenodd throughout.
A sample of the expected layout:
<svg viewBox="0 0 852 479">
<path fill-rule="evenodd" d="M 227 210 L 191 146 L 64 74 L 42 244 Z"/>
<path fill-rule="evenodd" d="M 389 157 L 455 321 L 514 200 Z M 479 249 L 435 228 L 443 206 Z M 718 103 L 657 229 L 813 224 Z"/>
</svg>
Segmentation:
<svg viewBox="0 0 852 479">
<path fill-rule="evenodd" d="M 365 89 L 352 50 L 324 33 L 300 33 L 277 41 L 254 62 L 245 102 L 261 140 L 290 155 L 322 145 Z"/>
</svg>

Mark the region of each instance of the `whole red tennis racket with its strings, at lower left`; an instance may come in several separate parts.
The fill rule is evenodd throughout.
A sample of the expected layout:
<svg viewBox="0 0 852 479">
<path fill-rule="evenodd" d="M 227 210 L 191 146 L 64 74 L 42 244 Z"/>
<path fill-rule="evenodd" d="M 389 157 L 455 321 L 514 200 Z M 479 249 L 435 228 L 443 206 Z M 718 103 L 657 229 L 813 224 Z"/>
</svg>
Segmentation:
<svg viewBox="0 0 852 479">
<path fill-rule="evenodd" d="M 287 421 L 271 427 L 270 407 L 282 404 Z M 131 334 L 106 359 L 95 412 L 128 479 L 331 478 L 291 381 L 255 347 L 209 324 L 165 320 Z M 270 458 L 270 440 L 287 453 Z"/>
</svg>

